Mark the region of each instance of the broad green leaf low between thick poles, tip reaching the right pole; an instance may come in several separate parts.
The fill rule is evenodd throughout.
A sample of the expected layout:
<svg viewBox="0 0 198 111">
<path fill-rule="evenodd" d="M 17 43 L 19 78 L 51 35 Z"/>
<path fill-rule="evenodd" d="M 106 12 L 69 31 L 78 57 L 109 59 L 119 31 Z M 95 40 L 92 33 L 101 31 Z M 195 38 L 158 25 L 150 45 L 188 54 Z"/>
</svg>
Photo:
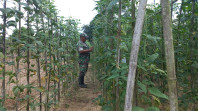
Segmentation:
<svg viewBox="0 0 198 111">
<path fill-rule="evenodd" d="M 168 96 L 163 94 L 159 89 L 155 87 L 151 87 L 151 88 L 148 88 L 148 90 L 151 94 L 168 100 Z"/>
</svg>

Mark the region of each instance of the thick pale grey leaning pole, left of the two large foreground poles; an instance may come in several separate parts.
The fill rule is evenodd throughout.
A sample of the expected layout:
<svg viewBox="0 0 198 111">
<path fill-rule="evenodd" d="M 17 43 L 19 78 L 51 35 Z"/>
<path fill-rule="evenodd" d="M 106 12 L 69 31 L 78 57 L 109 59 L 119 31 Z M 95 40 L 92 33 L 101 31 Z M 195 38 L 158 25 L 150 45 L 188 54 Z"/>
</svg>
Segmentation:
<svg viewBox="0 0 198 111">
<path fill-rule="evenodd" d="M 135 24 L 135 31 L 134 31 L 133 41 L 132 41 L 131 56 L 130 56 L 130 62 L 129 62 L 129 73 L 128 73 L 128 80 L 127 80 L 124 111 L 132 110 L 133 93 L 134 93 L 134 86 L 135 86 L 135 74 L 136 74 L 140 39 L 141 39 L 142 28 L 144 24 L 146 4 L 147 4 L 147 0 L 141 0 L 139 8 L 138 8 L 138 16 L 137 16 L 137 20 Z"/>
</svg>

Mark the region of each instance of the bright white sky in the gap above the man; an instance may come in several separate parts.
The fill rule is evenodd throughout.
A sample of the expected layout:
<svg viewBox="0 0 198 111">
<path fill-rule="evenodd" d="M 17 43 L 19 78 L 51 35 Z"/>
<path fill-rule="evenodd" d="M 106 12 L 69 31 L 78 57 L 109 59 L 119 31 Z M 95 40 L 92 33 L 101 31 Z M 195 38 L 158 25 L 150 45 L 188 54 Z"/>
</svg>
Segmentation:
<svg viewBox="0 0 198 111">
<path fill-rule="evenodd" d="M 80 20 L 80 27 L 88 25 L 97 12 L 94 10 L 94 0 L 54 0 L 60 11 L 59 15 Z"/>
</svg>

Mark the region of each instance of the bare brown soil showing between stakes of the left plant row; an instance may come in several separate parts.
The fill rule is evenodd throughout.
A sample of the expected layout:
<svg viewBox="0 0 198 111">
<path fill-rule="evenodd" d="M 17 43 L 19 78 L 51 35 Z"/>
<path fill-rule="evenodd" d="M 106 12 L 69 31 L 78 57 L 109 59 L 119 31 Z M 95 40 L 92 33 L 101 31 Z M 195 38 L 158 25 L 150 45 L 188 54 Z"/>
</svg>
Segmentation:
<svg viewBox="0 0 198 111">
<path fill-rule="evenodd" d="M 15 57 L 14 58 L 11 58 L 11 57 L 8 57 L 6 59 L 7 62 L 13 62 L 15 60 Z M 35 70 L 36 69 L 36 61 L 35 60 L 30 60 L 30 65 L 32 65 L 30 68 Z M 18 79 L 19 79 L 19 83 L 18 85 L 26 85 L 27 84 L 27 64 L 24 60 L 21 60 L 20 61 L 20 72 L 18 74 Z M 16 64 L 15 65 L 6 65 L 6 72 L 12 72 L 14 73 L 16 71 Z M 34 85 L 35 87 L 38 87 L 38 77 L 37 77 L 37 73 L 33 73 L 31 72 L 30 73 L 30 84 Z M 0 75 L 2 76 L 2 75 Z M 41 78 L 45 76 L 45 73 L 44 71 L 42 70 L 41 68 Z M 12 78 L 14 81 L 16 81 L 16 78 L 13 77 Z M 5 101 L 5 107 L 7 108 L 8 111 L 11 111 L 11 110 L 14 110 L 15 109 L 15 99 L 13 99 L 14 97 L 14 94 L 13 94 L 13 87 L 16 86 L 16 83 L 9 83 L 10 80 L 10 76 L 9 75 L 6 75 L 6 78 L 5 78 L 5 81 L 6 81 L 6 94 L 8 95 L 7 96 L 7 99 Z M 42 81 L 43 82 L 43 81 Z M 0 83 L 2 83 L 2 80 L 0 80 Z M 44 83 L 42 83 L 42 86 L 44 85 Z M 0 84 L 0 87 L 2 87 L 2 84 Z M 31 93 L 31 96 L 33 98 L 35 98 L 37 95 L 39 94 L 38 91 L 35 91 L 35 90 L 32 90 L 32 93 Z M 26 89 L 20 93 L 20 98 L 24 98 L 26 95 Z M 23 106 L 23 102 L 19 102 L 19 107 L 22 107 Z"/>
</svg>

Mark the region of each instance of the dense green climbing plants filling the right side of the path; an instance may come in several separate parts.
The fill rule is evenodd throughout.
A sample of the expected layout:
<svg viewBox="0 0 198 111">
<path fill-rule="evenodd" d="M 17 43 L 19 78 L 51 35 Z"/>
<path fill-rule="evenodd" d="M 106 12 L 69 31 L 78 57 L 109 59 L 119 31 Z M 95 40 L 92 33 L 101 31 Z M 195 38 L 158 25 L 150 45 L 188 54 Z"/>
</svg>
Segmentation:
<svg viewBox="0 0 198 111">
<path fill-rule="evenodd" d="M 97 1 L 95 9 L 98 14 L 90 25 L 84 28 L 93 38 L 94 70 L 102 83 L 103 92 L 98 99 L 106 111 L 117 111 L 117 105 L 123 110 L 138 3 L 138 0 L 122 0 L 122 16 L 119 21 L 118 0 Z M 198 102 L 198 2 L 182 0 L 173 1 L 170 5 L 173 14 L 179 110 L 195 111 Z M 122 28 L 121 38 L 118 38 L 119 22 Z M 121 49 L 119 67 L 116 61 L 118 48 Z M 137 67 L 134 110 L 169 110 L 160 4 L 147 5 Z"/>
</svg>

